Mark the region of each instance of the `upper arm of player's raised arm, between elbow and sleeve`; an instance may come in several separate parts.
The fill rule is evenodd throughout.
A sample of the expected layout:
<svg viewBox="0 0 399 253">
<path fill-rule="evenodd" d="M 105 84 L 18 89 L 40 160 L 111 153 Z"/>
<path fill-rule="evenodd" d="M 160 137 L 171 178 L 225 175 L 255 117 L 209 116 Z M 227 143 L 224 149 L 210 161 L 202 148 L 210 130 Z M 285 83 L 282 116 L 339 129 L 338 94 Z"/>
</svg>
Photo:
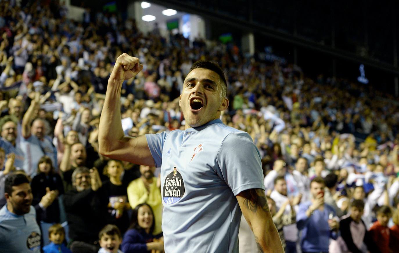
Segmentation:
<svg viewBox="0 0 399 253">
<path fill-rule="evenodd" d="M 105 153 L 106 157 L 134 164 L 155 166 L 145 135 L 136 138 L 124 136 L 114 143 L 115 149 Z"/>
</svg>

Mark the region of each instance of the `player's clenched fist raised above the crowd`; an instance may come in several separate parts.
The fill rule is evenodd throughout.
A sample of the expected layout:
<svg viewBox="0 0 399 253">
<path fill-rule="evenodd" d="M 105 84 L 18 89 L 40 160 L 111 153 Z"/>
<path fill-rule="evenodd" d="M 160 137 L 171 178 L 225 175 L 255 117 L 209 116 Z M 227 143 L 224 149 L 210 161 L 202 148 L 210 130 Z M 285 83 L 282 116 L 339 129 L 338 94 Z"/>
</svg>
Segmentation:
<svg viewBox="0 0 399 253">
<path fill-rule="evenodd" d="M 127 53 L 122 53 L 115 62 L 110 79 L 128 80 L 136 76 L 143 69 L 143 65 L 138 62 L 138 58 L 132 57 Z"/>
</svg>

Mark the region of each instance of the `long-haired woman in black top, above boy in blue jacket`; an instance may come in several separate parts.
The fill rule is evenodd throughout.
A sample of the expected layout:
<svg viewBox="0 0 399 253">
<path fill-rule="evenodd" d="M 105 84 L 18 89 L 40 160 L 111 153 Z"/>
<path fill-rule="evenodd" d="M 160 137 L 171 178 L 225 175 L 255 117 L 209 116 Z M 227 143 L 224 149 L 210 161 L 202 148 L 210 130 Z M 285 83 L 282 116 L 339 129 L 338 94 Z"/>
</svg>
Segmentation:
<svg viewBox="0 0 399 253">
<path fill-rule="evenodd" d="M 41 198 L 49 191 L 56 190 L 58 195 L 64 193 L 61 177 L 55 173 L 50 157 L 43 156 L 38 163 L 38 175 L 32 179 L 32 194 L 34 202 L 40 202 Z M 59 204 L 58 198 L 47 207 L 46 212 L 43 212 L 44 217 L 41 217 L 43 222 L 59 223 Z"/>
</svg>

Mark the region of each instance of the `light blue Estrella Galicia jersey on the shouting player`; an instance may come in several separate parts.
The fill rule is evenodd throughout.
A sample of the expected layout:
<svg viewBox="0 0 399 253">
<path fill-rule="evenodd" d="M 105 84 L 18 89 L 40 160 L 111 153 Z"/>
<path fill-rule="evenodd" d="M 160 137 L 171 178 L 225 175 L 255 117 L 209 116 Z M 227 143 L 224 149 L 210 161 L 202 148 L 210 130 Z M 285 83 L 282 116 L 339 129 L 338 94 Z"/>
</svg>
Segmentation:
<svg viewBox="0 0 399 253">
<path fill-rule="evenodd" d="M 241 210 L 235 196 L 265 189 L 249 134 L 213 120 L 146 138 L 161 166 L 165 252 L 238 252 Z"/>
</svg>

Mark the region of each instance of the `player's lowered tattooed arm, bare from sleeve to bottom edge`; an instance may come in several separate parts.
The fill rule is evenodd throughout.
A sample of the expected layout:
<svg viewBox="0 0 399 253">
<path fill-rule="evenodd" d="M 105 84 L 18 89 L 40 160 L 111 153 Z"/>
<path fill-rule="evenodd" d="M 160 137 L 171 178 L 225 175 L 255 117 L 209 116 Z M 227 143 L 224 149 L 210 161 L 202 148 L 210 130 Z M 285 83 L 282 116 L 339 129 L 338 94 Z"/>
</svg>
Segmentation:
<svg viewBox="0 0 399 253">
<path fill-rule="evenodd" d="M 237 196 L 245 220 L 255 234 L 261 253 L 284 253 L 279 233 L 273 223 L 263 189 L 249 189 Z"/>
</svg>

